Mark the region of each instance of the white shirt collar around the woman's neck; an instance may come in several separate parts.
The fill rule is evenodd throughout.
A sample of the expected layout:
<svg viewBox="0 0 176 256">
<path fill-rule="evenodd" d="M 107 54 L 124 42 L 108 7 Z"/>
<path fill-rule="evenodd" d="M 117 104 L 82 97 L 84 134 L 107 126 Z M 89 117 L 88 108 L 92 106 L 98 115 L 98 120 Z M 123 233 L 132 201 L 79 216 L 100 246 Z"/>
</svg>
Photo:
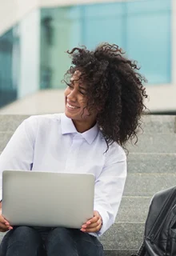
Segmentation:
<svg viewBox="0 0 176 256">
<path fill-rule="evenodd" d="M 66 114 L 61 115 L 61 130 L 62 134 L 80 134 L 83 138 L 86 139 L 86 142 L 91 144 L 94 142 L 98 134 L 98 125 L 95 124 L 90 130 L 86 130 L 84 133 L 78 133 L 76 130 L 74 123 L 72 122 L 71 118 L 67 118 Z"/>
</svg>

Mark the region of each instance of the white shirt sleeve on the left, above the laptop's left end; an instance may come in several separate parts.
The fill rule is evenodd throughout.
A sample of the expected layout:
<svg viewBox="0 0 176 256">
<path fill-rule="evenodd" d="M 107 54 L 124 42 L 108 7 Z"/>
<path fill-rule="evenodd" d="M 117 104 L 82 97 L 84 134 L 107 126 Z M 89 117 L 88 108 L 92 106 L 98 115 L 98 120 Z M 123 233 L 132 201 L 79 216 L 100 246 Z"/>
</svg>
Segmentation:
<svg viewBox="0 0 176 256">
<path fill-rule="evenodd" d="M 34 118 L 23 121 L 0 155 L 0 200 L 2 200 L 3 170 L 31 170 L 32 168 L 34 154 L 33 130 Z"/>
</svg>

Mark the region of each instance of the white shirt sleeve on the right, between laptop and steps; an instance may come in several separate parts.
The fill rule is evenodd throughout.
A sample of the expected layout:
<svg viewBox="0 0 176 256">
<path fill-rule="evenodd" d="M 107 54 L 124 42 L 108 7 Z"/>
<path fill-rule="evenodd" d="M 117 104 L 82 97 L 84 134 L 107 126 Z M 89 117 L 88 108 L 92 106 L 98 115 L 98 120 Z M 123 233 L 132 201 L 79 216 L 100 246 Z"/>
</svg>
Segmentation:
<svg viewBox="0 0 176 256">
<path fill-rule="evenodd" d="M 108 150 L 109 151 L 109 150 Z M 107 151 L 105 166 L 95 181 L 94 210 L 102 216 L 101 236 L 115 222 L 126 182 L 126 154 L 117 144 Z"/>
</svg>

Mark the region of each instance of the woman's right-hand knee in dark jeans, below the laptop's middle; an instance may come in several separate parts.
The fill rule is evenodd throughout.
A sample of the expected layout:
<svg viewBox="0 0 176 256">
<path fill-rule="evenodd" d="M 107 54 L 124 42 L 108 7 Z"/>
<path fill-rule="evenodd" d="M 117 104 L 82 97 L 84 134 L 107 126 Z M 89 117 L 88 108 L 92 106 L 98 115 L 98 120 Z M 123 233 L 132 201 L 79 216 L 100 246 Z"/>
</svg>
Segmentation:
<svg viewBox="0 0 176 256">
<path fill-rule="evenodd" d="M 46 238 L 45 247 L 47 256 L 78 256 L 76 243 L 70 230 L 66 228 L 58 227 L 51 230 Z"/>
</svg>

